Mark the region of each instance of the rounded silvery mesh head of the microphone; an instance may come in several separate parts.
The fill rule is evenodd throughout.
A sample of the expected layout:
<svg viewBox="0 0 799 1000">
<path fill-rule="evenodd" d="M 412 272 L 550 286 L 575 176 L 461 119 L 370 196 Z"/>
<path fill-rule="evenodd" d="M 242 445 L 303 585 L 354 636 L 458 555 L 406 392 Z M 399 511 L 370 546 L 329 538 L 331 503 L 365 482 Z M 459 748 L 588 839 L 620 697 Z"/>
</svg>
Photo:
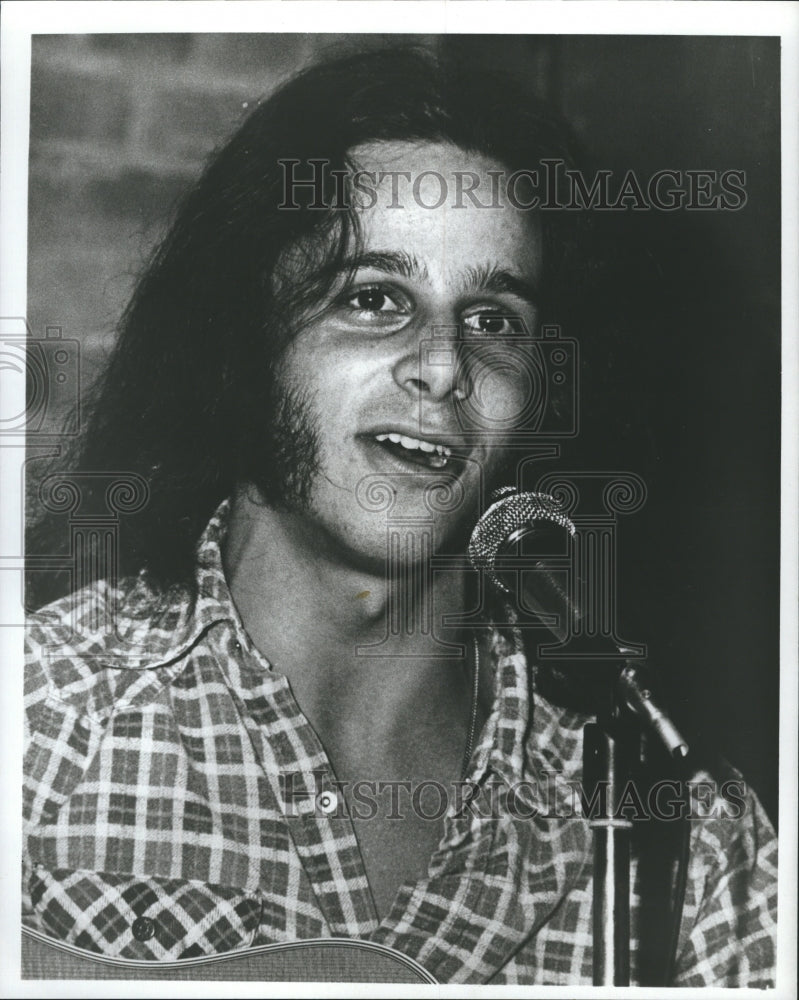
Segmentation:
<svg viewBox="0 0 799 1000">
<path fill-rule="evenodd" d="M 507 587 L 494 571 L 497 555 L 515 541 L 520 529 L 530 528 L 535 522 L 546 526 L 558 525 L 570 535 L 575 528 L 557 500 L 548 493 L 521 493 L 512 486 L 503 486 L 494 492 L 498 497 L 485 511 L 474 527 L 469 540 L 469 559 L 477 570 L 484 570 L 495 586 Z"/>
</svg>

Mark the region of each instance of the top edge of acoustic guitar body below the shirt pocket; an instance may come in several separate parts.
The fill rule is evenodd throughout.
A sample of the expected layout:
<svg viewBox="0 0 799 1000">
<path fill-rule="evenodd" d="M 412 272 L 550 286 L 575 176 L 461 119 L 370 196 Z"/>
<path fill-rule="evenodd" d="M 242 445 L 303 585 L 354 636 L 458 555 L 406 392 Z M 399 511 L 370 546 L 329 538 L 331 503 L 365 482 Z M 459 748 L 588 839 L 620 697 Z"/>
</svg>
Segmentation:
<svg viewBox="0 0 799 1000">
<path fill-rule="evenodd" d="M 172 962 L 107 958 L 22 928 L 23 979 L 153 979 L 172 982 L 436 983 L 418 962 L 384 945 L 314 938 L 238 948 Z"/>
</svg>

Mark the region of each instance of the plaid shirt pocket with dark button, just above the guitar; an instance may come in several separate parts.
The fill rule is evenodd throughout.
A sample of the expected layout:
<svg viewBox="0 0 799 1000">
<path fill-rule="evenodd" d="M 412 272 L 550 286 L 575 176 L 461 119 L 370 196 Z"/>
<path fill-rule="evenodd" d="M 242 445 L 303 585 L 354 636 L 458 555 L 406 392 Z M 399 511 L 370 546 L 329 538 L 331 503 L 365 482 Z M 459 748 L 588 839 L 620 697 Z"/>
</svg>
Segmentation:
<svg viewBox="0 0 799 1000">
<path fill-rule="evenodd" d="M 257 895 L 188 879 L 34 867 L 38 930 L 116 958 L 174 960 L 246 948 L 261 915 Z"/>
</svg>

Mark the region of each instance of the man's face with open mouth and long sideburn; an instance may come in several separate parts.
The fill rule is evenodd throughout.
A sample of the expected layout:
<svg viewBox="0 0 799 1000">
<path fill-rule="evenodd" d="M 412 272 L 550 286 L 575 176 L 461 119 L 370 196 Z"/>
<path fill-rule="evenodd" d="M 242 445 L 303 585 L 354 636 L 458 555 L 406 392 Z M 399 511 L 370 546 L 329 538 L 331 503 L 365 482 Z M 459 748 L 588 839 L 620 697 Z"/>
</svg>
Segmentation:
<svg viewBox="0 0 799 1000">
<path fill-rule="evenodd" d="M 507 459 L 530 394 L 507 317 L 535 329 L 541 239 L 488 174 L 501 167 L 475 154 L 384 142 L 353 159 L 375 175 L 409 171 L 411 182 L 397 198 L 387 177 L 359 209 L 354 272 L 315 304 L 279 379 L 293 407 L 284 417 L 315 452 L 304 521 L 348 558 L 384 563 L 387 519 L 432 523 L 434 547 L 452 544 Z M 413 192 L 432 170 L 446 182 L 438 208 L 425 207 L 441 200 L 436 177 Z M 464 171 L 479 175 L 478 198 L 492 207 L 468 197 L 454 207 Z"/>
</svg>

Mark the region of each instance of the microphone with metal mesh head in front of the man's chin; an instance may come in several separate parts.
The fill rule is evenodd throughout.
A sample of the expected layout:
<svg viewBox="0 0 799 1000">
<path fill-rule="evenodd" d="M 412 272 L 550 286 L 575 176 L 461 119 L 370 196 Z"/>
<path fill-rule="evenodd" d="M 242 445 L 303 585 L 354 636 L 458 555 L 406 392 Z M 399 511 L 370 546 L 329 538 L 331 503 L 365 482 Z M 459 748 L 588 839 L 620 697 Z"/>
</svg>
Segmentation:
<svg viewBox="0 0 799 1000">
<path fill-rule="evenodd" d="M 518 570 L 507 570 L 507 556 L 522 539 L 553 542 L 562 545 L 564 532 L 573 536 L 576 528 L 563 513 L 558 501 L 547 493 L 522 493 L 513 486 L 503 486 L 493 494 L 493 503 L 475 525 L 469 540 L 472 566 L 485 573 L 499 590 L 517 593 L 522 587 Z M 563 642 L 576 631 L 583 612 L 567 594 L 557 578 L 547 569 L 545 560 L 526 574 L 523 594 L 535 609 L 542 624 Z M 503 572 L 503 570 L 505 570 Z M 624 704 L 659 737 L 672 757 L 688 754 L 688 744 L 669 719 L 644 677 L 643 664 L 629 658 L 632 650 L 614 643 L 619 660 L 624 662 L 616 681 L 617 692 Z"/>
</svg>

